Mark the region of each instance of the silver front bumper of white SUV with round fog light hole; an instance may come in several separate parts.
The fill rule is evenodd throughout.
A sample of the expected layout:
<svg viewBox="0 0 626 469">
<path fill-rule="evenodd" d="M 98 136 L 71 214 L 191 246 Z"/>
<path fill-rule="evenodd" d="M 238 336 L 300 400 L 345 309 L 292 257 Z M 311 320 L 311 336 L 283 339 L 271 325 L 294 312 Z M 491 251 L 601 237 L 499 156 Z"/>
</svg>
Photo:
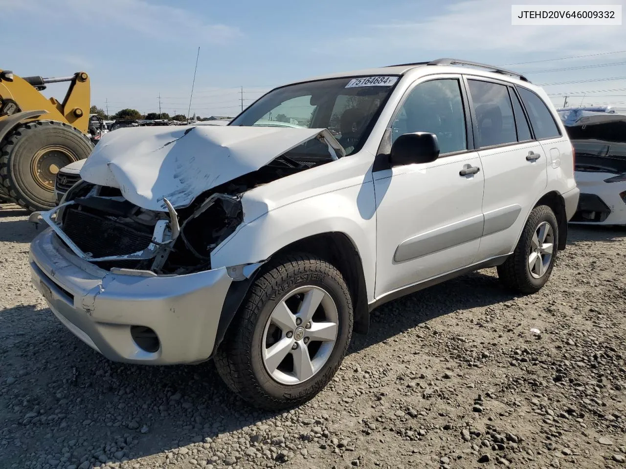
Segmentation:
<svg viewBox="0 0 626 469">
<path fill-rule="evenodd" d="M 226 268 L 178 276 L 111 273 L 83 261 L 48 228 L 31 243 L 34 286 L 76 336 L 106 358 L 172 365 L 212 353 L 232 279 Z M 155 352 L 140 348 L 131 326 L 156 332 Z"/>
</svg>

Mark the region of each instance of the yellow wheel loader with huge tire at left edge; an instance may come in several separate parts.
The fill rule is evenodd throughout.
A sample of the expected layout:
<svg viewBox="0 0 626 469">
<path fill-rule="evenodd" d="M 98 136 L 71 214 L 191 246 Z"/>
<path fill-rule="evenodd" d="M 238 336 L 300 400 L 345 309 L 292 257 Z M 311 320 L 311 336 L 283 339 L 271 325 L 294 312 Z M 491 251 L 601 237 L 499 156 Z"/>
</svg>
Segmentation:
<svg viewBox="0 0 626 469">
<path fill-rule="evenodd" d="M 60 103 L 40 91 L 69 82 Z M 20 78 L 0 69 L 0 202 L 31 211 L 52 208 L 59 169 L 89 156 L 90 83 L 85 72 L 63 78 Z"/>
</svg>

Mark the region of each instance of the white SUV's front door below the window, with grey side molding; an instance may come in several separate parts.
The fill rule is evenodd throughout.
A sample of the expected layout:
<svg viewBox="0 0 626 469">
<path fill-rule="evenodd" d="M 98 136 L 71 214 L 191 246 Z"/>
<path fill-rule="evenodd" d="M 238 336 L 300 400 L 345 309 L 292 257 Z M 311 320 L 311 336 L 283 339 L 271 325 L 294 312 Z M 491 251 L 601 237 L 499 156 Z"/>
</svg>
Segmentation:
<svg viewBox="0 0 626 469">
<path fill-rule="evenodd" d="M 374 173 L 376 296 L 470 265 L 483 233 L 483 171 L 469 152 Z"/>
</svg>

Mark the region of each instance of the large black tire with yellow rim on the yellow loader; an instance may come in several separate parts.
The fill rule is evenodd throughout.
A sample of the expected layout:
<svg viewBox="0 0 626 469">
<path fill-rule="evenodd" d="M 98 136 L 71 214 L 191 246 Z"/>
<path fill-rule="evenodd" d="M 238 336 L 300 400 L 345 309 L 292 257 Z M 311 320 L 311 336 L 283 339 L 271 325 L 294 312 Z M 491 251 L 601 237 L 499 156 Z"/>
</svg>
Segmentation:
<svg viewBox="0 0 626 469">
<path fill-rule="evenodd" d="M 69 163 L 87 158 L 92 148 L 89 139 L 68 124 L 22 124 L 0 145 L 3 192 L 31 211 L 53 208 L 56 173 Z"/>
</svg>

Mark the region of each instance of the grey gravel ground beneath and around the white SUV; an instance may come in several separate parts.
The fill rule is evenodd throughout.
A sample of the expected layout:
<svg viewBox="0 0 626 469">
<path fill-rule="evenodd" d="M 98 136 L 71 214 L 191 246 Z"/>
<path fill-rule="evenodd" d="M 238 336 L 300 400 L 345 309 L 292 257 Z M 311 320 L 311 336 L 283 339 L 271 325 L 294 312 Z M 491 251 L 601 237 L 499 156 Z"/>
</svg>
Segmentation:
<svg viewBox="0 0 626 469">
<path fill-rule="evenodd" d="M 490 269 L 382 306 L 326 390 L 276 414 L 211 362 L 74 338 L 30 284 L 25 215 L 0 209 L 1 468 L 626 468 L 624 229 L 572 228 L 533 296 Z"/>
</svg>

